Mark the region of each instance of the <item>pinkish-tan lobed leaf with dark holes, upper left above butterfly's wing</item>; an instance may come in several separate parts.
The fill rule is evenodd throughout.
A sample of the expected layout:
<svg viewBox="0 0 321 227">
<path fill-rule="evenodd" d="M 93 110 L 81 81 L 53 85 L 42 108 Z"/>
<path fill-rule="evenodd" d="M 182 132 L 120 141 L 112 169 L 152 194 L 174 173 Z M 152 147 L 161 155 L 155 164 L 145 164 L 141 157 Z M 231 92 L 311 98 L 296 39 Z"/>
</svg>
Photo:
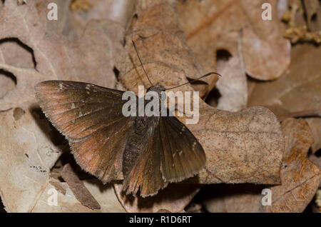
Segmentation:
<svg viewBox="0 0 321 227">
<path fill-rule="evenodd" d="M 0 59 L 0 69 L 14 74 L 17 81 L 16 89 L 1 99 L 1 109 L 33 101 L 34 85 L 48 79 L 115 86 L 113 49 L 121 43 L 111 40 L 106 31 L 121 34 L 122 29 L 112 22 L 91 21 L 81 38 L 68 39 L 47 30 L 46 7 L 41 6 L 35 6 L 32 1 L 17 7 L 13 1 L 5 1 L 0 8 L 0 21 L 7 21 L 0 24 L 0 40 L 11 37 L 18 39 L 32 49 L 36 62 L 35 68 L 25 69 Z M 110 26 L 106 28 L 108 24 Z"/>
</svg>

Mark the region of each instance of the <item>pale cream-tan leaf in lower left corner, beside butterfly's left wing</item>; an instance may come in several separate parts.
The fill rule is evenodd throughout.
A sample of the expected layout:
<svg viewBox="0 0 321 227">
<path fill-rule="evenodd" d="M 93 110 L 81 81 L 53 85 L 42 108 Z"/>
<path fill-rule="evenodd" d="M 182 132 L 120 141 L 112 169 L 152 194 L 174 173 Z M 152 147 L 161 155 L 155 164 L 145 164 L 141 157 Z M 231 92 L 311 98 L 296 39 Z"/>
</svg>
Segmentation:
<svg viewBox="0 0 321 227">
<path fill-rule="evenodd" d="M 6 211 L 32 211 L 50 180 L 49 173 L 61 149 L 47 135 L 51 126 L 44 116 L 24 109 L 0 113 L 0 195 Z M 48 133 L 48 134 L 46 134 Z"/>
</svg>

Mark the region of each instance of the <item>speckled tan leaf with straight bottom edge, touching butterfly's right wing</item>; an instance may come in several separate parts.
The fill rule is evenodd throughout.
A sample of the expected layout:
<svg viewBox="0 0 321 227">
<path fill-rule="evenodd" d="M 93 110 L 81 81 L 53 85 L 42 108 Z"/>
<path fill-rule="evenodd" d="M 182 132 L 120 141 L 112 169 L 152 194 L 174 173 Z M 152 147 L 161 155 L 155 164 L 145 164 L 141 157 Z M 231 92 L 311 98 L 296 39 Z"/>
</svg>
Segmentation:
<svg viewBox="0 0 321 227">
<path fill-rule="evenodd" d="M 200 106 L 197 124 L 187 125 L 206 154 L 200 183 L 280 183 L 284 138 L 277 118 L 256 106 L 238 112 Z"/>
</svg>

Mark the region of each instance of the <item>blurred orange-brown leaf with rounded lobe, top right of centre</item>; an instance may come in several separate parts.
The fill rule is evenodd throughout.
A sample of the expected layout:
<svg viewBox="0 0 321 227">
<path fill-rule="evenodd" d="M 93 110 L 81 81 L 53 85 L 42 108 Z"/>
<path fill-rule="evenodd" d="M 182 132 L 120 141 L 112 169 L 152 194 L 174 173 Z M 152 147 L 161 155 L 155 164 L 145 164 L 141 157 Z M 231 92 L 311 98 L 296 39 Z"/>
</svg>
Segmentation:
<svg viewBox="0 0 321 227">
<path fill-rule="evenodd" d="M 277 19 L 277 1 L 272 20 L 263 21 L 264 0 L 184 1 L 178 4 L 180 25 L 188 45 L 205 71 L 215 71 L 215 52 L 226 49 L 235 55 L 235 44 L 243 28 L 243 56 L 249 76 L 260 80 L 280 77 L 290 64 L 290 42 L 282 37 Z M 277 53 L 277 54 L 276 54 Z"/>
</svg>

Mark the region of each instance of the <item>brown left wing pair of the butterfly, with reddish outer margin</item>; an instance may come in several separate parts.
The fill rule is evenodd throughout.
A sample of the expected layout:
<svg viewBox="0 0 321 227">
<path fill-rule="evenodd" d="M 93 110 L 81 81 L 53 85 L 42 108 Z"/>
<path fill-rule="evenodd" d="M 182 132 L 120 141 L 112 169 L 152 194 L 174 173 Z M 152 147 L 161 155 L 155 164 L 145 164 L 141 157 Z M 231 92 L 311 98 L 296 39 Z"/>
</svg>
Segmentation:
<svg viewBox="0 0 321 227">
<path fill-rule="evenodd" d="M 79 165 L 104 183 L 121 171 L 123 149 L 133 119 L 122 114 L 123 91 L 75 81 L 36 86 L 41 109 L 68 139 Z"/>
</svg>

